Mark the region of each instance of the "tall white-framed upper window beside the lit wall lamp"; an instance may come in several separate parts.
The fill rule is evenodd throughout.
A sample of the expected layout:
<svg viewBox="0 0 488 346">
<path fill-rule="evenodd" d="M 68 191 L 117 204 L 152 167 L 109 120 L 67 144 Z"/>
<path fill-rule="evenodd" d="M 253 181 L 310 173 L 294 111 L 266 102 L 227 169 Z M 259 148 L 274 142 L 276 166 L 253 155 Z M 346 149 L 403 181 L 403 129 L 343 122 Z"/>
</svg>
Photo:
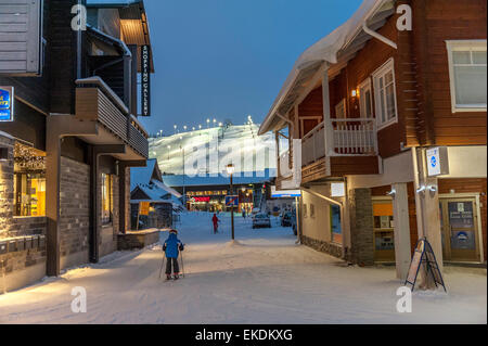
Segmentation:
<svg viewBox="0 0 488 346">
<path fill-rule="evenodd" d="M 394 60 L 390 59 L 373 74 L 374 99 L 378 129 L 398 120 L 397 91 L 395 87 Z"/>
</svg>

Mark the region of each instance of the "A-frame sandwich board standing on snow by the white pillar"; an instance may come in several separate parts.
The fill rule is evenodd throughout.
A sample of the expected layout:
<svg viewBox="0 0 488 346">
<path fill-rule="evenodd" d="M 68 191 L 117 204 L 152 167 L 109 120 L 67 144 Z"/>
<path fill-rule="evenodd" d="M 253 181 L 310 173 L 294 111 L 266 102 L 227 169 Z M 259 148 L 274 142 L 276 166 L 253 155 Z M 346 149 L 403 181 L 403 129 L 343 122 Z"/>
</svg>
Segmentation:
<svg viewBox="0 0 488 346">
<path fill-rule="evenodd" d="M 436 255 L 434 254 L 431 243 L 428 243 L 426 238 L 422 238 L 416 242 L 415 253 L 413 254 L 412 260 L 410 262 L 409 273 L 407 280 L 404 281 L 404 286 L 411 285 L 412 292 L 415 289 L 416 279 L 419 277 L 420 267 L 422 265 L 424 265 L 427 274 L 431 273 L 436 287 L 441 285 L 444 287 L 444 291 L 447 293 L 446 284 L 440 272 L 439 265 L 437 264 Z M 416 266 L 416 268 L 414 266 Z M 412 280 L 411 274 L 413 273 L 413 271 L 414 277 Z"/>
</svg>

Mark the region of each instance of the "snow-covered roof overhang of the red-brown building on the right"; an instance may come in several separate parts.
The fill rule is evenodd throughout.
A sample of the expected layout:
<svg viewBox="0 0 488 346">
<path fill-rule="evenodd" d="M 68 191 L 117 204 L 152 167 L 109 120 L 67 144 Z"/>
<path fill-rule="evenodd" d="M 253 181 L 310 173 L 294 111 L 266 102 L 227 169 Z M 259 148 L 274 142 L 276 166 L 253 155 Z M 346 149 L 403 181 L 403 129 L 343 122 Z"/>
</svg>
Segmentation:
<svg viewBox="0 0 488 346">
<path fill-rule="evenodd" d="M 324 64 L 336 64 L 338 53 L 361 33 L 363 24 L 368 23 L 378 11 L 390 9 L 391 0 L 364 0 L 346 23 L 301 53 L 259 128 L 259 134 L 275 129 L 280 124 L 283 125 L 283 120 L 277 114 L 286 115 L 284 112 L 280 112 L 280 107 L 283 103 L 288 107 L 293 104 L 298 95 L 292 95 L 292 93 L 299 93 L 316 73 L 323 68 Z"/>
</svg>

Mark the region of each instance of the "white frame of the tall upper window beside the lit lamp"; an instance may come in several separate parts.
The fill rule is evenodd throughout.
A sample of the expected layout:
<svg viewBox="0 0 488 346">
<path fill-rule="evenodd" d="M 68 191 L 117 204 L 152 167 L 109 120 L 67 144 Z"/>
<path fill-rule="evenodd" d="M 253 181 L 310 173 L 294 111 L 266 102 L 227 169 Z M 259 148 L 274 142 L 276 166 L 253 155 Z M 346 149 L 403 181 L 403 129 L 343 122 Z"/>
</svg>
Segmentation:
<svg viewBox="0 0 488 346">
<path fill-rule="evenodd" d="M 386 120 L 383 123 L 383 107 L 381 104 L 382 98 L 380 97 L 381 90 L 378 86 L 378 79 L 384 78 L 389 72 L 391 72 L 393 75 L 393 88 L 394 88 L 394 99 L 395 99 L 395 117 L 391 119 L 387 119 L 387 115 L 385 116 Z M 377 129 L 382 130 L 388 126 L 391 126 L 394 124 L 398 123 L 398 100 L 397 100 L 397 79 L 395 75 L 395 61 L 393 57 L 388 59 L 380 68 L 377 68 L 373 74 L 373 92 L 374 92 L 374 110 L 375 110 L 375 116 L 376 116 L 376 124 Z M 386 86 L 384 86 L 384 89 L 386 90 Z M 386 93 L 385 93 L 385 108 L 386 108 Z"/>
</svg>

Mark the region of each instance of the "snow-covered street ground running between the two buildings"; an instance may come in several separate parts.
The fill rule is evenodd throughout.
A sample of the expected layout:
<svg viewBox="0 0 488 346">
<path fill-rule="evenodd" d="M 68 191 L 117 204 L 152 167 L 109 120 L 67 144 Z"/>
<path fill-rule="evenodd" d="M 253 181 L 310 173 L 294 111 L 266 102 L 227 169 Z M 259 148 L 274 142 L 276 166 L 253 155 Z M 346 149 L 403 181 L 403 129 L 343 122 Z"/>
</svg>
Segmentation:
<svg viewBox="0 0 488 346">
<path fill-rule="evenodd" d="M 207 214 L 182 219 L 185 279 L 158 280 L 158 247 L 116 253 L 0 296 L 0 323 L 487 322 L 486 270 L 447 268 L 449 294 L 415 292 L 413 312 L 398 313 L 391 268 L 343 267 L 295 245 L 293 232 L 278 225 L 252 230 L 237 217 L 239 242 L 231 244 L 228 217 L 217 235 Z M 87 313 L 70 311 L 75 286 L 87 290 Z"/>
</svg>

